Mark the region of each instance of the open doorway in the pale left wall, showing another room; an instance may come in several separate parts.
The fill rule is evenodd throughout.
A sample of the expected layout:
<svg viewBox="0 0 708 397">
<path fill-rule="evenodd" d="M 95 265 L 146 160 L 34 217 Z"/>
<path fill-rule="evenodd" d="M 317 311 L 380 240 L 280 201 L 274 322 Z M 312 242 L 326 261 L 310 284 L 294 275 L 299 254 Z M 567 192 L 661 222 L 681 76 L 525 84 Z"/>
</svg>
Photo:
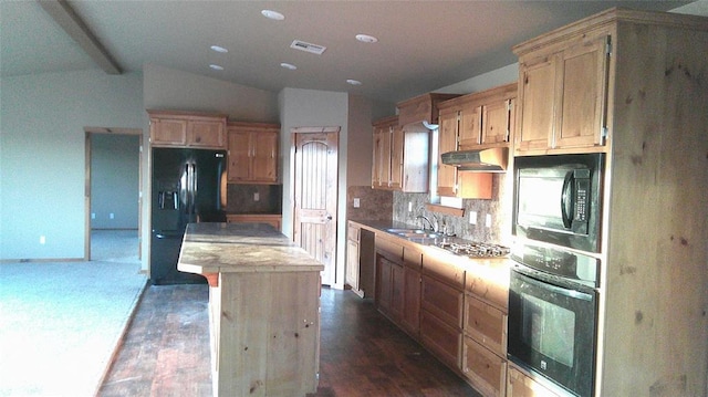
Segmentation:
<svg viewBox="0 0 708 397">
<path fill-rule="evenodd" d="M 139 261 L 143 130 L 85 127 L 84 132 L 84 260 Z"/>
</svg>

